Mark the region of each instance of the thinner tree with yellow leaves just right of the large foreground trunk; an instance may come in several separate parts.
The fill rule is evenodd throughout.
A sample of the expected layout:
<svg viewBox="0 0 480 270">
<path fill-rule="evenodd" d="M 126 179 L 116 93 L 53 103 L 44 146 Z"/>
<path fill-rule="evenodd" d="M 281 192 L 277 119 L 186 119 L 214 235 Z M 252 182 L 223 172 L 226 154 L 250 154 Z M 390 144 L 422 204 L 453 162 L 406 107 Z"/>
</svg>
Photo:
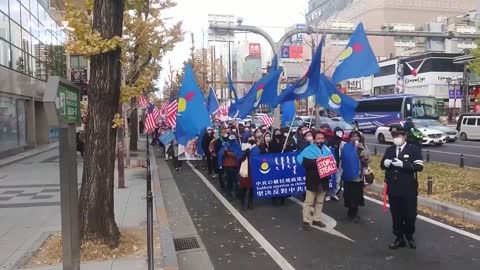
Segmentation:
<svg viewBox="0 0 480 270">
<path fill-rule="evenodd" d="M 171 0 L 161 0 L 149 5 L 148 0 L 132 0 L 130 12 L 125 14 L 125 86 L 122 88 L 122 102 L 130 101 L 131 108 L 137 107 L 137 97 L 153 88 L 158 77 L 160 62 L 175 44 L 183 40 L 181 22 L 171 27 L 162 18 L 163 13 L 176 6 Z M 132 109 L 130 114 L 130 149 L 137 149 L 138 115 Z"/>
</svg>

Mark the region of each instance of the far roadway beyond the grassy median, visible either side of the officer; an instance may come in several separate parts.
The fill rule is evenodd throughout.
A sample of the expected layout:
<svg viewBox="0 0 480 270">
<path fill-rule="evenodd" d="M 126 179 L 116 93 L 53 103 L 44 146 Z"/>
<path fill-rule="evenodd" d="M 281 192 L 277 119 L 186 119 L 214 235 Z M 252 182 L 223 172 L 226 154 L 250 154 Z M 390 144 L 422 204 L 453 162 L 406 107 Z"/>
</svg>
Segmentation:
<svg viewBox="0 0 480 270">
<path fill-rule="evenodd" d="M 373 134 L 365 134 L 365 141 L 371 151 L 374 151 L 374 147 L 377 147 L 379 153 L 383 153 L 389 146 L 388 144 L 380 144 Z M 424 159 L 426 159 L 427 151 L 429 151 L 431 161 L 455 165 L 459 165 L 460 155 L 463 154 L 465 166 L 480 168 L 480 142 L 478 141 L 456 141 L 442 146 L 424 146 L 422 151 Z"/>
</svg>

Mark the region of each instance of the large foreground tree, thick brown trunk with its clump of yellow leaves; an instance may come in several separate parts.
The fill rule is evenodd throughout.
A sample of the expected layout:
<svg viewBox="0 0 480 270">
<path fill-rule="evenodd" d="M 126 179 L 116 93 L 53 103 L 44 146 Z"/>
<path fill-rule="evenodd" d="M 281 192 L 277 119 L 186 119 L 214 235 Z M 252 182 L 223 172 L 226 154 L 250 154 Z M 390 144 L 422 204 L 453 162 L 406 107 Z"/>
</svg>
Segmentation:
<svg viewBox="0 0 480 270">
<path fill-rule="evenodd" d="M 123 1 L 87 0 L 86 8 L 67 3 L 65 15 L 74 29 L 67 50 L 90 57 L 91 68 L 80 234 L 82 240 L 110 247 L 117 247 L 120 239 L 113 201 L 116 130 L 111 123 L 120 98 L 123 11 Z"/>
</svg>

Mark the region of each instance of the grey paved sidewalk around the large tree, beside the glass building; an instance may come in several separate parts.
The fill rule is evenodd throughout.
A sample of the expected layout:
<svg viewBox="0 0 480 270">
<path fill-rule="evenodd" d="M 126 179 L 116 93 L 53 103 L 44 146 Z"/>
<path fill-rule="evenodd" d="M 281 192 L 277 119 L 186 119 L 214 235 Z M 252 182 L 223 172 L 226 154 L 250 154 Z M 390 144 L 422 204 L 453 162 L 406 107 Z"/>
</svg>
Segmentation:
<svg viewBox="0 0 480 270">
<path fill-rule="evenodd" d="M 145 159 L 145 143 L 140 139 L 139 151 L 131 163 Z M 0 175 L 0 269 L 62 269 L 62 265 L 24 268 L 31 257 L 52 232 L 61 230 L 58 151 L 51 146 L 11 157 Z M 29 154 L 31 157 L 29 157 Z M 135 156 L 135 157 L 133 157 Z M 16 161 L 15 161 L 16 160 Z M 79 157 L 78 182 L 80 188 L 83 160 Z M 115 166 L 116 168 L 116 166 Z M 118 189 L 115 172 L 115 218 L 119 228 L 145 227 L 146 182 L 145 168 L 125 170 L 125 189 Z M 156 198 L 155 198 L 156 199 Z M 162 269 L 158 217 L 154 203 L 154 247 L 156 269 Z M 145 230 L 146 233 L 146 230 Z M 82 263 L 81 269 L 130 270 L 147 269 L 145 257 L 119 258 L 111 261 Z"/>
</svg>

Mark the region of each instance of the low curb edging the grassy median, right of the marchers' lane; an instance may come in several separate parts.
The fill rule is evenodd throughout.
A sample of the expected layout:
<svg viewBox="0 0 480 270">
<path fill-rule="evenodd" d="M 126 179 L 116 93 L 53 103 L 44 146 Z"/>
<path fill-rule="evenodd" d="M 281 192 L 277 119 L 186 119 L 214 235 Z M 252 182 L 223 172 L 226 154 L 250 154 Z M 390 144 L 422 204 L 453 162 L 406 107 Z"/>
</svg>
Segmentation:
<svg viewBox="0 0 480 270">
<path fill-rule="evenodd" d="M 374 192 L 383 193 L 383 186 L 374 183 L 369 186 Z M 460 218 L 464 222 L 480 225 L 480 213 L 450 203 L 418 196 L 418 204 L 444 215 Z"/>
</svg>

